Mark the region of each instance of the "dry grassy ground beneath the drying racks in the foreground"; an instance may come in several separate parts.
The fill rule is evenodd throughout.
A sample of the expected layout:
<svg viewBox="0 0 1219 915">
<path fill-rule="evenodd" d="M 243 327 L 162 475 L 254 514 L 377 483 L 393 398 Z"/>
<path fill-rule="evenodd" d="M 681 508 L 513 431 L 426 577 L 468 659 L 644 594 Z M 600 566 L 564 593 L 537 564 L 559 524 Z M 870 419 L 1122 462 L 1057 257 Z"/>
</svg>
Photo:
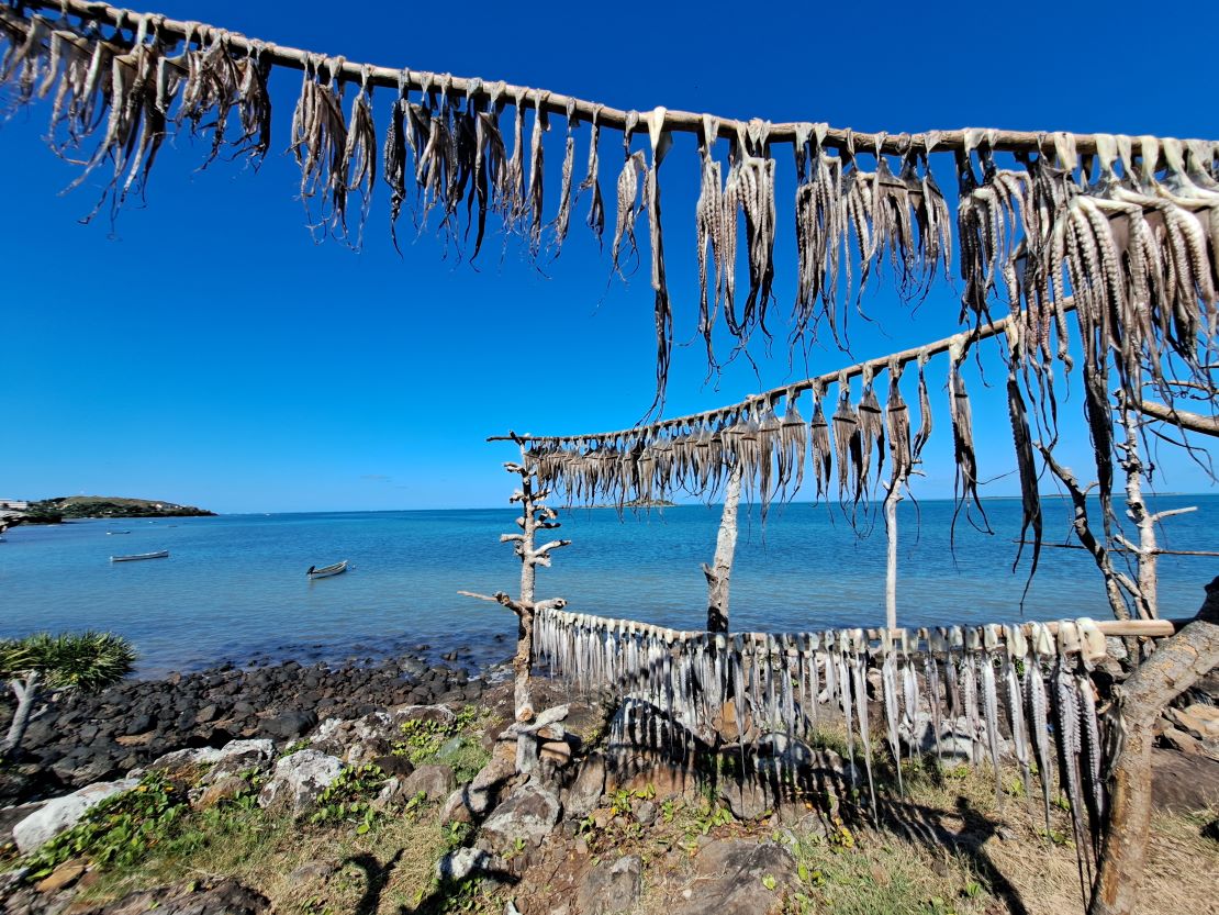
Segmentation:
<svg viewBox="0 0 1219 915">
<path fill-rule="evenodd" d="M 421 764 L 449 754 L 468 777 L 485 755 L 474 739 L 475 717 L 467 716 L 462 728 L 463 739 L 455 744 L 450 732 L 417 727 L 403 734 L 402 750 Z M 833 744 L 833 734 L 826 743 Z M 617 791 L 575 834 L 556 833 L 531 855 L 510 852 L 516 860 L 508 867 L 518 882 L 505 887 L 439 884 L 435 864 L 468 839 L 466 827 L 442 828 L 438 803 L 417 798 L 369 815 L 377 777 L 354 772 L 345 782 L 347 793 L 323 799 L 323 815 L 305 820 L 258 809 L 257 784 L 251 783 L 246 794 L 208 810 L 180 805 L 180 815 L 158 820 L 145 847 L 90 872 L 79 898 L 104 902 L 157 884 L 235 877 L 266 894 L 282 915 L 499 915 L 507 899 L 534 915 L 573 904 L 574 887 L 589 870 L 639 854 L 644 893 L 635 913 L 663 915 L 690 898 L 684 894 L 697 892 L 697 856 L 707 842 L 744 838 L 775 841 L 792 852 L 796 886 L 784 894 L 763 878 L 758 893 L 774 893 L 777 904 L 781 900 L 785 911 L 800 915 L 1082 911 L 1076 849 L 1063 809 L 1052 809 L 1047 830 L 1040 800 L 1025 797 L 1012 772 L 998 794 L 985 767 L 909 766 L 903 773 L 906 794 L 886 788 L 883 794 L 891 799 L 883 804 L 879 824 L 852 819 L 848 809 L 842 811 L 846 821 L 809 814 L 796 826 L 779 817 L 737 822 L 712 792 L 666 799 L 647 787 Z M 878 777 L 887 783 L 892 772 Z M 139 803 L 151 805 L 154 794 Z M 645 805 L 655 806 L 655 815 L 642 816 Z M 156 809 L 165 804 L 157 802 Z M 1219 843 L 1201 834 L 1215 814 L 1154 819 L 1143 911 L 1219 911 Z"/>
</svg>

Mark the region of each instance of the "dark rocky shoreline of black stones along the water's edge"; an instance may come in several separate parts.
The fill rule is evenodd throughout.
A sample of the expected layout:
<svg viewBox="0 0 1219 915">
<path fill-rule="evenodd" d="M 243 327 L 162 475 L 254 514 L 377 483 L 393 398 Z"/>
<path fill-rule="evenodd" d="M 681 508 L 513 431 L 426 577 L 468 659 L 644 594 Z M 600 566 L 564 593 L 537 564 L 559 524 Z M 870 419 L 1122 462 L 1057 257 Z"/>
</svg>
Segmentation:
<svg viewBox="0 0 1219 915">
<path fill-rule="evenodd" d="M 489 678 L 507 676 L 495 666 L 472 672 L 457 664 L 458 651 L 429 662 L 427 649 L 371 664 L 222 664 L 124 681 L 96 695 L 61 691 L 30 722 L 21 758 L 0 772 L 0 806 L 119 777 L 176 750 L 244 738 L 290 742 L 322 720 L 403 704 L 477 703 Z M 9 714 L 0 711 L 0 728 Z"/>
</svg>

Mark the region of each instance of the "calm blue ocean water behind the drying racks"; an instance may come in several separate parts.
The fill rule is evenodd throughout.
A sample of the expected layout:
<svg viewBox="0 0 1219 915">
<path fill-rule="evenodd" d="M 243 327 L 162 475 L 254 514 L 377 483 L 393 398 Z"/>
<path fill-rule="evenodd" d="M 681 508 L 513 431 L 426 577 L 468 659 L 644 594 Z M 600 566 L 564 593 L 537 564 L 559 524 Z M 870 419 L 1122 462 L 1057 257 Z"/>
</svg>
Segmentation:
<svg viewBox="0 0 1219 915">
<path fill-rule="evenodd" d="M 1160 497 L 1157 509 L 1197 505 L 1169 518 L 1160 545 L 1217 549 L 1219 495 Z M 898 622 L 917 626 L 1020 619 L 1028 551 L 1012 573 L 1019 503 L 986 503 L 993 536 L 957 525 L 952 504 L 900 506 Z M 920 517 L 917 517 L 917 512 Z M 513 592 L 519 565 L 499 534 L 512 510 L 229 515 L 207 518 L 80 521 L 18 527 L 0 543 L 0 636 L 32 630 L 112 630 L 158 675 L 256 653 L 340 660 L 429 644 L 469 647 L 475 661 L 511 653 L 514 617 L 458 589 Z M 1095 511 L 1093 511 L 1095 514 Z M 1046 537 L 1062 543 L 1070 506 L 1046 501 Z M 573 544 L 539 570 L 539 597 L 569 609 L 697 628 L 705 621 L 700 564 L 714 550 L 719 508 L 666 509 L 619 521 L 610 510 L 564 514 Z M 884 621 L 885 533 L 857 538 L 835 506 L 772 508 L 741 518 L 733 575 L 734 630 L 802 631 Z M 107 536 L 111 531 L 130 531 Z M 167 549 L 171 558 L 113 565 L 111 554 Z M 308 582 L 305 570 L 349 559 L 352 571 Z M 1219 572 L 1209 558 L 1160 559 L 1160 608 L 1192 615 Z M 1025 619 L 1108 609 L 1090 556 L 1046 549 Z M 499 637 L 499 640 L 496 639 Z"/>
</svg>

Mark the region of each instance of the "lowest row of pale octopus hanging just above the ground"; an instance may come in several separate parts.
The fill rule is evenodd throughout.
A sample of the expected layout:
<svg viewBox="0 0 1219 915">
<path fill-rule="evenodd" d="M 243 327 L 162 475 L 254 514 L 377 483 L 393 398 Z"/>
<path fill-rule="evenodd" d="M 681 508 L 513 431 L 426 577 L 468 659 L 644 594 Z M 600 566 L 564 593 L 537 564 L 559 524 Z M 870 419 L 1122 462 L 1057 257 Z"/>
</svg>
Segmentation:
<svg viewBox="0 0 1219 915">
<path fill-rule="evenodd" d="M 1097 850 L 1104 749 L 1090 671 L 1104 658 L 1106 640 L 1091 620 L 1063 620 L 1056 631 L 1031 622 L 728 634 L 547 609 L 535 619 L 533 647 L 539 670 L 623 703 L 612 743 L 673 741 L 674 731 L 711 742 L 730 719 L 728 737 L 744 754 L 746 742 L 781 736 L 791 747 L 823 720 L 845 723 L 847 771 L 853 778 L 862 759 L 873 809 L 868 673 L 879 669 L 884 738 L 898 786 L 903 747 L 911 758 L 948 756 L 964 743 L 972 761 L 989 756 L 996 793 L 1006 765 L 1019 771 L 1026 797 L 1036 773 L 1048 828 L 1057 769 L 1082 864 Z M 645 712 L 667 727 L 638 726 Z M 779 765 L 792 759 L 778 756 Z"/>
</svg>

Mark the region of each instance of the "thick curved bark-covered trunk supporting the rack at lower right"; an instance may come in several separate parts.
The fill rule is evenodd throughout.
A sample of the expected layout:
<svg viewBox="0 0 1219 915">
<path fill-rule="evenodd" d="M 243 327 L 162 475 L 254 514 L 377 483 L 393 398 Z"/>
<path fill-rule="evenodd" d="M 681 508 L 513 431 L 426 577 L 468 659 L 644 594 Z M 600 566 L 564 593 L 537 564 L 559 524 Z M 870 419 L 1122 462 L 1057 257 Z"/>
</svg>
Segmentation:
<svg viewBox="0 0 1219 915">
<path fill-rule="evenodd" d="M 1207 586 L 1198 615 L 1120 687 L 1108 711 L 1123 738 L 1111 776 L 1109 816 L 1089 915 L 1130 915 L 1147 863 L 1151 830 L 1153 726 L 1164 706 L 1219 665 L 1219 577 Z"/>
</svg>

